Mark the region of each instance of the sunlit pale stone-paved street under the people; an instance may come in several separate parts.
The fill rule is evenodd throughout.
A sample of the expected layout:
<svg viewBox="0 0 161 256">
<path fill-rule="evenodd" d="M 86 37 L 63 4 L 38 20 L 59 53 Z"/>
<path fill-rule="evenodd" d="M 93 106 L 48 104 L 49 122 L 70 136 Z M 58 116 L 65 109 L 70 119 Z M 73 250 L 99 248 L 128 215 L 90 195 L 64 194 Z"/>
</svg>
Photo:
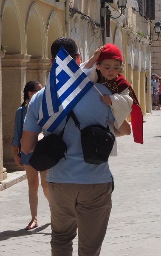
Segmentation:
<svg viewBox="0 0 161 256">
<path fill-rule="evenodd" d="M 161 256 L 161 111 L 144 120 L 144 145 L 118 139 L 110 157 L 115 178 L 113 208 L 100 256 Z M 50 211 L 39 189 L 38 227 L 30 221 L 28 185 L 23 180 L 0 191 L 0 256 L 51 256 Z M 73 241 L 77 256 L 78 239 Z"/>
</svg>

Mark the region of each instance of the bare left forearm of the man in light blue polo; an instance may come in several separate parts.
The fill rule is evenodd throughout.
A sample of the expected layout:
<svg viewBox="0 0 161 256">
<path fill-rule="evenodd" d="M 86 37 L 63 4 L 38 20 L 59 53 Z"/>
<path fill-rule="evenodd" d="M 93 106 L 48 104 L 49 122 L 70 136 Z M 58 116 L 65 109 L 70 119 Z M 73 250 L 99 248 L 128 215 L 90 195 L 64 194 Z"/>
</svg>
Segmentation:
<svg viewBox="0 0 161 256">
<path fill-rule="evenodd" d="M 25 154 L 29 154 L 34 151 L 34 148 L 38 141 L 39 133 L 33 131 L 23 131 L 23 136 L 21 138 L 21 150 Z"/>
</svg>

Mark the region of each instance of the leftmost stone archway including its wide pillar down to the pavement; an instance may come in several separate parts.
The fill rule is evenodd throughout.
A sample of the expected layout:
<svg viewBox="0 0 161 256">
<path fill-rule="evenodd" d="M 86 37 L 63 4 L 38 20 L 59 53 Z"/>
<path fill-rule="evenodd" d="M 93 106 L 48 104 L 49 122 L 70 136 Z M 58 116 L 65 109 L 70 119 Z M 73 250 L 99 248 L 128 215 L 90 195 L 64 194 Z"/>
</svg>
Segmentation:
<svg viewBox="0 0 161 256">
<path fill-rule="evenodd" d="M 25 29 L 17 0 L 6 0 L 2 8 L 2 44 L 7 46 L 2 59 L 3 166 L 20 170 L 14 163 L 11 141 L 16 109 L 21 105 L 25 83 Z M 9 18 L 8 18 L 9 17 Z"/>
</svg>

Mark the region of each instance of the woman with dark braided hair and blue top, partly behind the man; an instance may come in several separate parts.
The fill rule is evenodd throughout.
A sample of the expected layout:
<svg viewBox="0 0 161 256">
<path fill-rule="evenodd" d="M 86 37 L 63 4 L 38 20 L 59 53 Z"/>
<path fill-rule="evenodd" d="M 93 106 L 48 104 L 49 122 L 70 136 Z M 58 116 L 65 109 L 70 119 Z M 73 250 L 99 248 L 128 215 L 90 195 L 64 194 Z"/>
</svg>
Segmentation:
<svg viewBox="0 0 161 256">
<path fill-rule="evenodd" d="M 23 90 L 24 102 L 20 108 L 16 111 L 15 122 L 14 122 L 14 137 L 12 140 L 12 145 L 14 146 L 14 160 L 18 166 L 23 167 L 26 171 L 28 180 L 28 197 L 31 211 L 31 221 L 26 227 L 27 230 L 31 230 L 38 226 L 37 224 L 37 206 L 38 206 L 38 187 L 39 187 L 39 177 L 38 172 L 32 168 L 28 160 L 30 159 L 32 153 L 24 154 L 21 151 L 21 137 L 23 132 L 23 123 L 26 116 L 28 104 L 32 96 L 42 89 L 42 85 L 38 81 L 28 81 Z M 49 201 L 48 186 L 45 181 L 47 171 L 41 172 L 41 185 L 45 197 Z"/>
</svg>

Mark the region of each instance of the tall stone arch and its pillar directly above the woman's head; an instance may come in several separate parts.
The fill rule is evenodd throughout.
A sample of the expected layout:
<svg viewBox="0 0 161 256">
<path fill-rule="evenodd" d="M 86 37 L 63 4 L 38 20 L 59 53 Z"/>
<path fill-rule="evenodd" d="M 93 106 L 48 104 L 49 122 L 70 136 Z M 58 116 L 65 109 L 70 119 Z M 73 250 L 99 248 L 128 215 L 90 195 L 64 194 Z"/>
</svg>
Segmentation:
<svg viewBox="0 0 161 256">
<path fill-rule="evenodd" d="M 28 11 L 25 32 L 27 54 L 31 55 L 27 63 L 26 82 L 36 80 L 45 86 L 47 66 L 50 60 L 47 58 L 44 22 L 37 3 L 32 4 Z"/>
</svg>

